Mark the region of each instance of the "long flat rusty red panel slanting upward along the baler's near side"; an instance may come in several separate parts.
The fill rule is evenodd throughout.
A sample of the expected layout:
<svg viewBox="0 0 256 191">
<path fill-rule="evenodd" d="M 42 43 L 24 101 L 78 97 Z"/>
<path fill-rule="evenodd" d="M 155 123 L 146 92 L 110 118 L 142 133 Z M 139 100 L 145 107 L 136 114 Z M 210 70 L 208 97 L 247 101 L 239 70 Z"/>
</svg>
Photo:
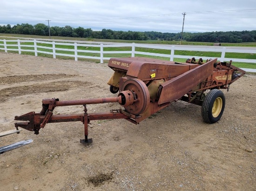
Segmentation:
<svg viewBox="0 0 256 191">
<path fill-rule="evenodd" d="M 193 70 L 189 70 L 184 74 L 177 76 L 165 83 L 162 83 L 161 95 L 158 104 L 166 102 L 172 102 L 180 99 L 186 93 L 188 93 L 198 83 L 204 81 L 213 72 L 213 64 L 217 61 L 217 58 L 202 64 Z"/>
</svg>

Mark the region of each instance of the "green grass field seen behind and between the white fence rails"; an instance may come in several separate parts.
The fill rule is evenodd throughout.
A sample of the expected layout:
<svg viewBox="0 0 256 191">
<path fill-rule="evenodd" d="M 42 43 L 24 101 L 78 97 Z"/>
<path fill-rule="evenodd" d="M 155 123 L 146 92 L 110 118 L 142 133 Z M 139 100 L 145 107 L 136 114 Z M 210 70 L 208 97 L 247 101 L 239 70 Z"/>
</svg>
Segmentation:
<svg viewBox="0 0 256 191">
<path fill-rule="evenodd" d="M 8 36 L 8 37 L 15 37 L 15 38 L 45 38 L 48 39 L 49 37 L 46 36 L 28 36 L 28 35 L 18 35 L 18 34 L 1 34 L 0 33 L 0 39 L 15 39 L 15 38 L 4 38 L 1 36 Z M 68 37 L 52 37 L 54 39 L 64 39 L 64 40 L 89 40 L 93 42 L 101 41 L 101 42 L 124 42 L 124 43 L 148 43 L 148 44 L 180 44 L 180 42 L 175 41 L 128 41 L 128 40 L 109 40 L 109 39 L 88 39 L 88 38 L 68 38 Z M 1 42 L 2 43 L 2 42 Z M 17 49 L 17 42 L 7 42 L 10 49 Z M 182 44 L 187 45 L 212 45 L 213 43 L 198 43 L 198 42 L 183 42 Z M 16 45 L 16 46 L 15 46 Z M 31 45 L 34 46 L 33 42 L 22 42 L 20 45 Z M 51 44 L 45 44 L 45 43 L 37 43 L 38 46 L 44 46 L 44 47 L 52 47 Z M 222 44 L 223 46 L 256 46 L 256 43 L 239 43 L 239 44 Z M 0 48 L 4 48 L 3 45 L 0 45 Z M 62 48 L 62 49 L 74 49 L 74 46 L 72 45 L 55 45 L 55 48 Z M 23 50 L 34 50 L 34 47 L 21 47 Z M 100 51 L 100 47 L 84 47 L 79 46 L 77 44 L 78 50 L 87 50 L 87 51 Z M 131 51 L 131 47 L 104 47 L 104 51 Z M 38 51 L 46 51 L 46 52 L 52 52 L 51 49 L 46 48 L 37 48 Z M 3 51 L 3 50 L 0 50 Z M 159 53 L 159 54 L 170 54 L 170 50 L 163 50 L 163 49 L 152 49 L 152 48 L 142 48 L 142 47 L 135 47 L 135 51 L 141 51 L 141 52 L 150 52 L 150 53 Z M 8 51 L 8 52 L 15 52 L 18 51 Z M 56 53 L 61 54 L 70 54 L 74 55 L 74 51 L 63 51 L 63 50 L 56 50 Z M 28 55 L 34 55 L 34 52 L 28 52 L 28 51 L 22 51 L 22 54 L 28 54 Z M 90 56 L 90 57 L 100 57 L 100 53 L 92 53 L 92 52 L 78 52 L 79 56 Z M 177 51 L 175 50 L 175 55 L 184 55 L 188 56 L 188 58 L 191 57 L 221 57 L 221 52 L 205 52 L 205 51 Z M 38 56 L 43 57 L 53 57 L 50 54 L 43 54 L 38 53 Z M 169 60 L 169 57 L 156 57 L 156 56 L 148 56 L 148 55 L 141 55 L 141 54 L 135 54 L 135 56 L 139 57 L 151 57 L 151 58 L 158 58 L 162 60 Z M 58 58 L 62 59 L 74 59 L 74 57 L 63 57 L 63 56 L 56 56 Z M 114 54 L 114 53 L 104 53 L 104 57 L 131 57 L 131 54 L 122 53 L 122 54 Z M 226 52 L 225 57 L 230 58 L 241 58 L 241 59 L 255 59 L 256 60 L 256 54 L 250 54 L 250 53 L 231 53 Z M 84 60 L 85 58 L 79 58 L 79 60 Z M 95 62 L 94 59 L 91 59 Z M 182 58 L 174 58 L 174 61 L 176 62 L 185 62 L 186 59 Z M 99 62 L 97 60 L 96 62 Z M 240 68 L 251 68 L 256 69 L 256 64 L 254 63 L 240 63 L 240 62 L 233 62 L 233 65 L 240 67 Z"/>
</svg>

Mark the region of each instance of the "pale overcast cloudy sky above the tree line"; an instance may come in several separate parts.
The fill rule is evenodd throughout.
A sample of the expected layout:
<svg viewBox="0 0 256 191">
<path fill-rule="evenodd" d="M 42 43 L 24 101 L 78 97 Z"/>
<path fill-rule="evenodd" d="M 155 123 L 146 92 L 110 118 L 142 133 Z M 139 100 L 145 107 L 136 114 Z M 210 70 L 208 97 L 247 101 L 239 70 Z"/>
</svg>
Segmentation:
<svg viewBox="0 0 256 191">
<path fill-rule="evenodd" d="M 181 32 L 256 30 L 255 0 L 0 0 L 0 25 L 50 20 L 93 30 Z"/>
</svg>

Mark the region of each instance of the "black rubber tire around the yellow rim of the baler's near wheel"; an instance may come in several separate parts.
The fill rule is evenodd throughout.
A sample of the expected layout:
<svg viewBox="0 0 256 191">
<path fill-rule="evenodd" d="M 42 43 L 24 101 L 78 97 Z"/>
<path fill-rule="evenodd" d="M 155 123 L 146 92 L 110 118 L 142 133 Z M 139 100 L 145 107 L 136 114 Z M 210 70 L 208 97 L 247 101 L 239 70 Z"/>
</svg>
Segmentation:
<svg viewBox="0 0 256 191">
<path fill-rule="evenodd" d="M 212 114 L 213 104 L 217 98 L 222 99 L 222 108 L 221 112 L 218 116 L 214 117 Z M 223 111 L 225 108 L 225 96 L 223 92 L 219 89 L 212 89 L 209 93 L 205 96 L 202 102 L 202 119 L 207 123 L 216 123 L 222 117 Z"/>
</svg>

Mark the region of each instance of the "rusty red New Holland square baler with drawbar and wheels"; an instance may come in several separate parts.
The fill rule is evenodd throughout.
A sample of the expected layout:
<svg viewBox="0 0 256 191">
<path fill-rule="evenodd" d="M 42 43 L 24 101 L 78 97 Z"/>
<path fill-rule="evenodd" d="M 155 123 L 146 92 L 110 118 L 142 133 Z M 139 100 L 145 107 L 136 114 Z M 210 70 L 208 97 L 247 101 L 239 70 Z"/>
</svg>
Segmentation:
<svg viewBox="0 0 256 191">
<path fill-rule="evenodd" d="M 43 99 L 40 113 L 30 112 L 15 116 L 15 127 L 22 127 L 39 134 L 47 123 L 81 121 L 84 124 L 85 139 L 88 139 L 88 123 L 92 120 L 126 119 L 139 124 L 171 102 L 182 100 L 202 106 L 202 118 L 215 123 L 223 113 L 225 97 L 220 89 L 229 90 L 229 85 L 245 74 L 245 71 L 217 58 L 188 59 L 186 63 L 163 61 L 142 57 L 111 58 L 108 66 L 115 72 L 108 81 L 110 91 L 116 97 L 60 101 Z M 210 91 L 205 95 L 205 91 Z M 88 113 L 87 104 L 118 102 L 122 108 L 106 113 Z M 55 107 L 83 105 L 84 112 L 72 115 L 53 115 Z"/>
</svg>

